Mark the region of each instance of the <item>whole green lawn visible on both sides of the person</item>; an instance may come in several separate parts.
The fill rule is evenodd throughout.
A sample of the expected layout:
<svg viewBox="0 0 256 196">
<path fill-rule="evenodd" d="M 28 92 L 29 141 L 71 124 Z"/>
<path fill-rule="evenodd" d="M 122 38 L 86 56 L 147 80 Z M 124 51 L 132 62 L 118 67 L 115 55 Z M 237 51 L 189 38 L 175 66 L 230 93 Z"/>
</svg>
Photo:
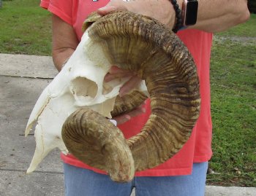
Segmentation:
<svg viewBox="0 0 256 196">
<path fill-rule="evenodd" d="M 39 1 L 3 1 L 0 52 L 50 55 L 50 13 Z M 214 35 L 208 184 L 256 187 L 256 15 Z"/>
</svg>

